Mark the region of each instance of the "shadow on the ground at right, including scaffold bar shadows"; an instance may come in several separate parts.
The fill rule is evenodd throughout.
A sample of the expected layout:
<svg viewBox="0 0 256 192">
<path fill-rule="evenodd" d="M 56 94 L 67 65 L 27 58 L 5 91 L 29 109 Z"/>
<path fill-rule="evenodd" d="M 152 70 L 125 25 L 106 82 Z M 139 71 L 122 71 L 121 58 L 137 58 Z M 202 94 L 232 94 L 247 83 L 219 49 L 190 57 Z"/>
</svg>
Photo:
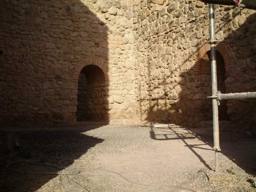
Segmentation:
<svg viewBox="0 0 256 192">
<path fill-rule="evenodd" d="M 192 153 L 204 164 L 208 169 L 214 169 L 209 166 L 204 158 L 196 152 L 196 149 L 214 150 L 213 132 L 210 129 L 177 129 L 177 128 L 155 128 L 152 127 L 150 137 L 154 140 L 181 140 L 184 147 L 191 150 Z M 191 144 L 191 139 L 201 140 L 204 144 Z M 249 174 L 256 174 L 256 153 L 253 150 L 256 144 L 256 135 L 246 134 L 243 132 L 221 131 L 220 146 L 221 153 L 227 156 L 231 161 Z M 213 156 L 212 156 L 213 157 Z M 214 160 L 214 159 L 213 159 Z"/>
</svg>

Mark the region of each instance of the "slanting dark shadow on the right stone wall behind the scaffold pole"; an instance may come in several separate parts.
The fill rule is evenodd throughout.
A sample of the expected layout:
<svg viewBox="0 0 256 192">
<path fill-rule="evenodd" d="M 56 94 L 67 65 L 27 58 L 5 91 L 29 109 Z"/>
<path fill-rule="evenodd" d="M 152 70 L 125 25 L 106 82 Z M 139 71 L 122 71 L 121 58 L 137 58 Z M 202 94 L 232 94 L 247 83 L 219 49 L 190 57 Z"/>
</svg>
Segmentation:
<svg viewBox="0 0 256 192">
<path fill-rule="evenodd" d="M 252 39 L 256 36 L 255 18 L 256 14 L 250 15 L 240 28 L 217 45 L 218 90 L 221 92 L 256 90 L 256 54 L 255 45 L 252 44 Z M 212 102 L 206 98 L 212 95 L 209 49 L 207 44 L 201 46 L 192 68 L 182 72 L 179 77 L 171 75 L 179 81 L 175 79 L 170 82 L 165 78 L 156 87 L 150 86 L 151 83 L 148 82 L 151 92 L 160 87 L 172 87 L 171 92 L 164 90 L 164 94 L 157 98 L 149 94 L 146 117 L 148 122 L 197 127 L 201 121 L 212 120 Z M 189 58 L 182 65 L 188 60 Z M 148 76 L 150 74 L 151 66 L 148 65 Z M 228 100 L 220 103 L 220 120 L 230 119 L 236 126 L 255 129 L 255 100 Z"/>
</svg>

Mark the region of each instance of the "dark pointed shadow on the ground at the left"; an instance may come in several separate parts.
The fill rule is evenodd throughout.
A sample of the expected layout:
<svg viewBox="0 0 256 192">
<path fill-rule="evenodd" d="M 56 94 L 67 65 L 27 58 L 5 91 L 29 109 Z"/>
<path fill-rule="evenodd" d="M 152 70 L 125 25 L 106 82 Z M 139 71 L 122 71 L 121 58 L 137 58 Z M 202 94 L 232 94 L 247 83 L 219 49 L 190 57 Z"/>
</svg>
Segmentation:
<svg viewBox="0 0 256 192">
<path fill-rule="evenodd" d="M 0 131 L 2 148 L 0 153 L 0 191 L 32 192 L 39 189 L 57 174 L 30 174 L 29 172 L 52 172 L 56 173 L 73 164 L 76 159 L 87 152 L 103 139 L 87 136 L 82 133 L 90 129 L 98 128 L 99 125 L 89 125 L 87 130 L 27 130 L 27 131 Z M 73 127 L 74 128 L 74 127 Z M 6 140 L 7 132 L 12 134 L 11 141 Z M 8 156 L 3 145 L 14 145 L 14 139 L 18 138 L 20 147 L 14 156 Z M 13 146 L 11 146 L 13 147 Z M 11 152 L 12 154 L 14 151 Z M 37 160 L 40 163 L 63 165 L 61 167 L 44 164 L 31 164 L 16 162 L 7 169 L 5 165 L 17 160 Z M 89 161 L 89 160 L 88 160 Z M 28 173 L 21 173 L 28 172 Z M 74 170 L 66 170 L 66 173 L 75 173 Z M 19 183 L 19 185 L 17 185 Z"/>
</svg>

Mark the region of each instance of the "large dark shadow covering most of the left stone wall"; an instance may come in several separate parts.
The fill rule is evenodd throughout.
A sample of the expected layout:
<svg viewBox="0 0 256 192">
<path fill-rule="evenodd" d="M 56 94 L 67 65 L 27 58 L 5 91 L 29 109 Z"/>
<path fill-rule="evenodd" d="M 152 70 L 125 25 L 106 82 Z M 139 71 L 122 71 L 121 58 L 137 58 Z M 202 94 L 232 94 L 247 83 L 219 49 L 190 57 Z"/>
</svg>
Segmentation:
<svg viewBox="0 0 256 192">
<path fill-rule="evenodd" d="M 7 1 L 1 2 L 1 13 L 0 122 L 4 126 L 76 123 L 77 103 L 78 113 L 82 110 L 88 120 L 98 120 L 97 114 L 108 122 L 105 23 L 79 0 Z M 88 65 L 105 76 L 100 85 L 97 79 L 90 82 L 86 87 L 90 94 L 84 94 L 88 98 L 81 106 L 77 102 L 77 84 L 85 84 L 79 81 L 81 71 L 101 78 Z"/>
</svg>

